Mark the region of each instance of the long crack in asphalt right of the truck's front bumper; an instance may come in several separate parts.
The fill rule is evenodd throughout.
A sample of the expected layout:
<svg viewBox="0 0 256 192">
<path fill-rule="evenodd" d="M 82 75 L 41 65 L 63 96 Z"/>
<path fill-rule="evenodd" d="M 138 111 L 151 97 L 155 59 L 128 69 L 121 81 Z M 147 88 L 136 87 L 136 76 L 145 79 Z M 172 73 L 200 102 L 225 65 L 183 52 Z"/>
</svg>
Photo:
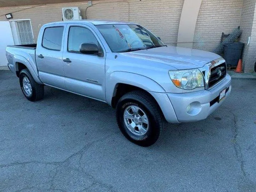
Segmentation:
<svg viewBox="0 0 256 192">
<path fill-rule="evenodd" d="M 236 155 L 237 160 L 240 163 L 241 172 L 242 172 L 243 176 L 246 177 L 246 172 L 245 172 L 245 169 L 244 169 L 244 161 L 243 161 L 243 154 L 242 154 L 241 146 L 237 142 L 237 137 L 238 137 L 237 121 L 238 121 L 238 119 L 237 119 L 236 115 L 233 112 L 231 112 L 231 111 L 226 111 L 226 112 L 229 112 L 229 113 L 231 113 L 233 115 L 233 123 L 234 123 L 233 143 L 234 143 L 235 155 Z"/>
</svg>

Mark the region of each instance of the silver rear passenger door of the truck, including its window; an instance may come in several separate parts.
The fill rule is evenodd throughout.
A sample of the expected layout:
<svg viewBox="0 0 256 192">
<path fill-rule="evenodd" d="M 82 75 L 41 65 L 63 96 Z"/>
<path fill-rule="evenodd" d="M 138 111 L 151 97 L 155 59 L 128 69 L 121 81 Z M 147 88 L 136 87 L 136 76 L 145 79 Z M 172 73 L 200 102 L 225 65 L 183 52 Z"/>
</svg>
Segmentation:
<svg viewBox="0 0 256 192">
<path fill-rule="evenodd" d="M 62 54 L 66 24 L 46 26 L 40 31 L 36 49 L 39 78 L 44 84 L 65 89 Z"/>
</svg>

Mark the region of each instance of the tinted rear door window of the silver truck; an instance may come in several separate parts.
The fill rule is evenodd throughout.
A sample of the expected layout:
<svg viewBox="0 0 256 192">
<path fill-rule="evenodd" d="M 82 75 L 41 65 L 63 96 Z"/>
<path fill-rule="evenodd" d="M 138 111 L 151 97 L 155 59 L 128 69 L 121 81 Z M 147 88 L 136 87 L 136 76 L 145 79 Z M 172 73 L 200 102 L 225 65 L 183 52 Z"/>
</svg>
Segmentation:
<svg viewBox="0 0 256 192">
<path fill-rule="evenodd" d="M 61 50 L 64 27 L 49 27 L 44 30 L 42 46 L 47 49 Z"/>
</svg>

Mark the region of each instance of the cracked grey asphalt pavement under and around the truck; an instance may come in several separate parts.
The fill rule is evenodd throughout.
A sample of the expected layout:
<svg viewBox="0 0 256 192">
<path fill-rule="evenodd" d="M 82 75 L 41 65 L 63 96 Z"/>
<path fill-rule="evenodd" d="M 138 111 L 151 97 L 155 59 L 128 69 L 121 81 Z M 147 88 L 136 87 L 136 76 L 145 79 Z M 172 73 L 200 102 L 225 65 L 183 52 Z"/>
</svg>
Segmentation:
<svg viewBox="0 0 256 192">
<path fill-rule="evenodd" d="M 232 86 L 207 119 L 144 148 L 107 104 L 48 86 L 30 102 L 0 70 L 0 191 L 255 192 L 256 80 Z"/>
</svg>

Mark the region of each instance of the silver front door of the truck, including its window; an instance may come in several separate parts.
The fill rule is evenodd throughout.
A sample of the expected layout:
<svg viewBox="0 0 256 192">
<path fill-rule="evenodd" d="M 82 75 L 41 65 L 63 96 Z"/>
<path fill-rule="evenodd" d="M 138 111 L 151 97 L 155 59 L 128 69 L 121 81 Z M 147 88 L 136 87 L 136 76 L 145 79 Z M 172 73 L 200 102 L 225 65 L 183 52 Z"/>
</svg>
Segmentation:
<svg viewBox="0 0 256 192">
<path fill-rule="evenodd" d="M 66 90 L 105 101 L 105 57 L 82 54 L 81 43 L 95 43 L 103 52 L 96 33 L 86 25 L 67 25 L 63 52 Z"/>
</svg>

